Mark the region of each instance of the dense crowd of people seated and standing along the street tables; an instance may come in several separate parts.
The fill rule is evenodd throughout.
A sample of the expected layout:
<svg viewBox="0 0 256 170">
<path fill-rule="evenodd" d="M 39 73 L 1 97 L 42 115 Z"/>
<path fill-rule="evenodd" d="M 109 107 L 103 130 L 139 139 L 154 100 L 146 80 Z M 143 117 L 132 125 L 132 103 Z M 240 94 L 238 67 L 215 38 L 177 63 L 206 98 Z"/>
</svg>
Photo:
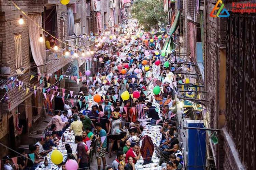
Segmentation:
<svg viewBox="0 0 256 170">
<path fill-rule="evenodd" d="M 136 31 L 140 30 L 136 28 Z M 157 40 L 149 41 L 154 39 L 151 33 L 143 32 L 138 37 L 119 36 L 111 39 L 109 44 L 113 47 L 113 52 L 94 56 L 94 61 L 100 63 L 100 67 L 93 74 L 93 81 L 87 83 L 85 80 L 82 83 L 83 95 L 77 99 L 82 103 L 77 102 L 71 107 L 69 100 L 65 100 L 63 110 L 55 111 L 48 123 L 45 137 L 29 145 L 30 153 L 35 155 L 34 162 L 25 154 L 24 149 L 18 151 L 24 155 L 18 157 L 19 169 L 34 170 L 38 167 L 40 162 L 45 161 L 44 156 L 60 144 L 63 132 L 69 129 L 75 135 L 77 150 L 74 152 L 69 144 L 65 145 L 68 155 L 58 165 L 60 169 L 66 169 L 65 162 L 69 159 L 76 160 L 79 169 L 87 169 L 90 167 L 90 154 L 95 149 L 98 170 L 135 170 L 135 164 L 141 158 L 143 148 L 140 148 L 140 140 L 146 124 L 162 126 L 161 145 L 155 148 L 161 158 L 160 165 L 167 170 L 182 169 L 175 88 L 172 86 L 176 78 L 171 67 L 163 66 L 170 58 L 157 52 L 160 51 L 159 44 Z M 156 65 L 156 61 L 160 61 L 160 64 Z M 164 81 L 159 80 L 156 75 L 164 78 Z M 160 86 L 162 92 L 148 98 L 149 84 Z M 101 101 L 93 102 L 90 108 L 86 108 L 89 100 L 85 96 L 93 97 L 103 89 L 106 92 L 101 94 Z M 128 100 L 122 98 L 125 91 L 131 95 Z M 136 98 L 132 96 L 134 91 L 137 92 Z M 155 107 L 154 103 L 158 103 L 160 108 Z M 88 140 L 96 141 L 96 148 L 88 147 Z M 106 165 L 108 153 L 109 158 L 115 157 L 111 165 Z M 4 170 L 10 170 L 9 166 L 9 156 L 6 156 Z"/>
</svg>

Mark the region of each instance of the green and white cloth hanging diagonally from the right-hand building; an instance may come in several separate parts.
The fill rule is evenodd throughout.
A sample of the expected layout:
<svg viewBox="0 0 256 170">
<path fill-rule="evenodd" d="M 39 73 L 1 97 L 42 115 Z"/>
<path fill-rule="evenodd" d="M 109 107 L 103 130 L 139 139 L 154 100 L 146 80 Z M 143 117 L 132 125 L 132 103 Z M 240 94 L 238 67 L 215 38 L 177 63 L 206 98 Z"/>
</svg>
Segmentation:
<svg viewBox="0 0 256 170">
<path fill-rule="evenodd" d="M 168 33 L 168 35 L 170 37 L 168 37 L 165 41 L 165 45 L 163 46 L 162 52 L 165 52 L 166 55 L 171 53 L 171 50 L 173 50 L 175 48 L 174 42 L 173 42 L 173 38 L 172 38 L 172 34 L 176 31 L 178 25 L 179 25 L 179 17 L 180 17 L 180 12 L 177 13 L 174 22 L 171 26 L 171 29 Z"/>
</svg>

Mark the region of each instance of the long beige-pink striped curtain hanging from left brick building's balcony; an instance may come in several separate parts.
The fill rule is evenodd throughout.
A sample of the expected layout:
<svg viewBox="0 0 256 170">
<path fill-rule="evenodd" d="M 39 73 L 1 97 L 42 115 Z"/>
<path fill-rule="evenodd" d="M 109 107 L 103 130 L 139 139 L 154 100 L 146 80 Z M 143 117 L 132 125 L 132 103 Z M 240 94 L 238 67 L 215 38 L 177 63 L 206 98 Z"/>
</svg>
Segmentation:
<svg viewBox="0 0 256 170">
<path fill-rule="evenodd" d="M 42 27 L 42 16 L 41 14 L 29 14 L 28 19 L 28 32 L 29 32 L 29 42 L 31 53 L 35 64 L 37 66 L 43 65 L 46 62 L 46 53 L 45 53 L 45 43 L 39 42 L 40 34 L 43 35 L 43 31 L 35 24 L 38 23 L 40 27 Z M 45 71 L 44 66 L 40 66 L 37 68 L 38 73 L 43 73 Z"/>
</svg>

